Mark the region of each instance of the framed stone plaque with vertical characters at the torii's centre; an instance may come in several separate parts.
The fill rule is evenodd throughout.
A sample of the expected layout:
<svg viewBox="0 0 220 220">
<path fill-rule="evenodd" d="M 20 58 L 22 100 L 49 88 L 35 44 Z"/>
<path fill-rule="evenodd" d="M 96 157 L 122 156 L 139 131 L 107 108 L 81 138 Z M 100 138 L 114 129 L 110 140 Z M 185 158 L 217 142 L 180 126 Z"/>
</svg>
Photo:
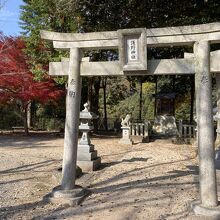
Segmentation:
<svg viewBox="0 0 220 220">
<path fill-rule="evenodd" d="M 124 72 L 147 70 L 147 37 L 145 28 L 118 30 L 119 61 Z"/>
</svg>

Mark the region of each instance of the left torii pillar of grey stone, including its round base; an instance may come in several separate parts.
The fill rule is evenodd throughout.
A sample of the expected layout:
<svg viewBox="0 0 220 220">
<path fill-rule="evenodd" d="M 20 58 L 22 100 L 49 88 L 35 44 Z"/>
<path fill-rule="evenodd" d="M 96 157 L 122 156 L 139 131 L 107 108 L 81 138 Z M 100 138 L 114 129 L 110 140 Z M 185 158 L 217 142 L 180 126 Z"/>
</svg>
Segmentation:
<svg viewBox="0 0 220 220">
<path fill-rule="evenodd" d="M 75 185 L 81 97 L 80 61 L 81 50 L 79 48 L 71 48 L 66 94 L 62 182 L 61 186 L 53 189 L 50 196 L 51 202 L 69 204 L 71 206 L 79 204 L 89 194 L 88 190 Z"/>
</svg>

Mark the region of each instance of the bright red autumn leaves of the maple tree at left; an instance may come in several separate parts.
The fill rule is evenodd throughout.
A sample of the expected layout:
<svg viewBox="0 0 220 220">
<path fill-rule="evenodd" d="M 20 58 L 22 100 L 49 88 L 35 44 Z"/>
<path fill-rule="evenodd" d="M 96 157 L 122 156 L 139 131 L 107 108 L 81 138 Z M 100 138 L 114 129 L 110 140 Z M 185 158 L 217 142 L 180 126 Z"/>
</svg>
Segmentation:
<svg viewBox="0 0 220 220">
<path fill-rule="evenodd" d="M 19 101 L 23 108 L 32 100 L 46 102 L 63 94 L 49 77 L 36 81 L 30 72 L 21 38 L 0 35 L 0 103 Z"/>
</svg>

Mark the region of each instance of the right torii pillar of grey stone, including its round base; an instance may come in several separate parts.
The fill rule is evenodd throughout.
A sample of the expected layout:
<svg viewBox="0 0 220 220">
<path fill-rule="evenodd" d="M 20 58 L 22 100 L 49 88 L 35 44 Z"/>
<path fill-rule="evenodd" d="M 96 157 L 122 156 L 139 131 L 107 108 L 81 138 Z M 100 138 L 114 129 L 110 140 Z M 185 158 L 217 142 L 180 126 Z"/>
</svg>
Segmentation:
<svg viewBox="0 0 220 220">
<path fill-rule="evenodd" d="M 194 53 L 200 202 L 193 204 L 193 210 L 199 215 L 220 216 L 220 209 L 217 206 L 218 198 L 214 161 L 212 77 L 210 73 L 209 42 L 195 42 Z"/>
</svg>

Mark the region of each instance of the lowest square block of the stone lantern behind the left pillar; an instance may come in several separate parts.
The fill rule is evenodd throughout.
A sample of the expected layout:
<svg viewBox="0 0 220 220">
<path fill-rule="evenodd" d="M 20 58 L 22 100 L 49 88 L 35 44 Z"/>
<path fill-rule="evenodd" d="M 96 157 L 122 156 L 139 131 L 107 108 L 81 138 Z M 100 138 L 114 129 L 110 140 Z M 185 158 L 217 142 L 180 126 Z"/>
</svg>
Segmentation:
<svg viewBox="0 0 220 220">
<path fill-rule="evenodd" d="M 95 171 L 101 165 L 101 157 L 96 157 L 93 160 L 78 160 L 77 165 L 83 172 Z"/>
</svg>

